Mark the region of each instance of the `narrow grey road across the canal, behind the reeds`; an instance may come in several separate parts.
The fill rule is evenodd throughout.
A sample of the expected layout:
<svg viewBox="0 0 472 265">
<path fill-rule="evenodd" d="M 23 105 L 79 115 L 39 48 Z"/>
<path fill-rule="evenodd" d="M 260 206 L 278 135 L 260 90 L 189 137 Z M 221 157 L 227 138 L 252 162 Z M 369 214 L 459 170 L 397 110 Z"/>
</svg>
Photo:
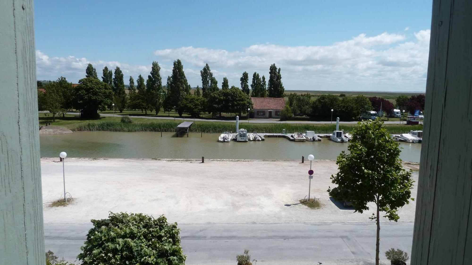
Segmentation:
<svg viewBox="0 0 472 265">
<path fill-rule="evenodd" d="M 67 114 L 72 114 L 72 115 L 78 115 L 78 112 L 67 112 Z M 108 116 L 112 117 L 114 116 L 113 114 L 106 114 L 106 113 L 101 113 L 100 116 Z M 118 114 L 115 116 L 120 117 Z M 131 118 L 146 118 L 146 119 L 160 119 L 160 120 L 173 120 L 174 117 L 151 117 L 151 116 L 130 116 Z M 176 117 L 176 120 L 183 121 L 184 118 L 179 118 Z M 193 118 L 186 118 L 187 121 L 203 121 L 203 122 L 234 122 L 236 120 L 211 120 L 211 119 L 193 119 Z M 242 120 L 240 121 L 241 123 L 247 123 L 247 120 Z M 287 123 L 287 124 L 330 124 L 330 121 L 321 121 L 321 122 L 315 122 L 315 121 L 279 121 L 278 119 L 251 119 L 249 122 L 251 123 Z M 333 124 L 336 124 L 336 117 L 333 117 Z M 357 124 L 357 121 L 354 122 L 343 122 L 340 121 L 340 124 Z M 384 124 L 399 124 L 398 121 L 384 121 Z"/>
</svg>

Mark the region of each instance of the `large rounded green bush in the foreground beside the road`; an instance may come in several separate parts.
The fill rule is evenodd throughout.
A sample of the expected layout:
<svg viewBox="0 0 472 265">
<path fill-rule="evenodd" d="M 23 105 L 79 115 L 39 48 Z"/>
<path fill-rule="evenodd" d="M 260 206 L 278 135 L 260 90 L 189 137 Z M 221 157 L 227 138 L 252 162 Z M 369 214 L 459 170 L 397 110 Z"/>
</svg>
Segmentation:
<svg viewBox="0 0 472 265">
<path fill-rule="evenodd" d="M 108 219 L 91 220 L 93 228 L 77 257 L 82 265 L 184 265 L 177 223 L 161 215 L 110 213 Z"/>
</svg>

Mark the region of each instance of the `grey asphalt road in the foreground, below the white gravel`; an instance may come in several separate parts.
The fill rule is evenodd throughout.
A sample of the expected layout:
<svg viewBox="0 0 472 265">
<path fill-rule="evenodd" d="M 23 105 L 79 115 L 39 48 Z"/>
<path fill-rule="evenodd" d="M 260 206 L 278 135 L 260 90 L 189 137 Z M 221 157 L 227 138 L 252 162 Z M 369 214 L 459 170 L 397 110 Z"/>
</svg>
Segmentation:
<svg viewBox="0 0 472 265">
<path fill-rule="evenodd" d="M 366 217 L 367 218 L 367 217 Z M 46 250 L 75 261 L 91 224 L 45 224 Z M 249 249 L 257 264 L 373 264 L 373 222 L 320 224 L 179 224 L 186 264 L 236 264 Z M 411 254 L 413 222 L 382 222 L 380 260 L 400 248 Z"/>
</svg>

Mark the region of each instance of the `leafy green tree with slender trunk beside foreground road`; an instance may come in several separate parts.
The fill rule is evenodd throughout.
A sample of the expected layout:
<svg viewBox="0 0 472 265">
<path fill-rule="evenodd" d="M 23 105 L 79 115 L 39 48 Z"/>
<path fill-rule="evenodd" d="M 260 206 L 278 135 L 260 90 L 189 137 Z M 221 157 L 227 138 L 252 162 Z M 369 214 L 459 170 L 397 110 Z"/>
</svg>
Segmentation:
<svg viewBox="0 0 472 265">
<path fill-rule="evenodd" d="M 379 120 L 359 123 L 348 150 L 349 154 L 342 151 L 337 157 L 339 171 L 331 175 L 337 187 L 328 192 L 334 199 L 352 202 L 361 214 L 369 210 L 368 203 L 375 203 L 376 213 L 369 218 L 377 224 L 375 262 L 379 265 L 380 212 L 398 221 L 398 208 L 411 197 L 411 171 L 402 167 L 399 144 Z"/>
</svg>

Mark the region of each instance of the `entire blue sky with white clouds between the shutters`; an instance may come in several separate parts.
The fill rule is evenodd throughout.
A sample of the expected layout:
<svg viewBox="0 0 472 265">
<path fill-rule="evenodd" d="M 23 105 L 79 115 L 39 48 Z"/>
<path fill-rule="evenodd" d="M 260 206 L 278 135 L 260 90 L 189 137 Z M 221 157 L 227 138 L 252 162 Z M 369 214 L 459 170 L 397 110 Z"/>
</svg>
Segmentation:
<svg viewBox="0 0 472 265">
<path fill-rule="evenodd" d="M 240 87 L 244 71 L 286 90 L 425 91 L 431 0 L 34 2 L 38 80 L 77 83 L 92 63 L 162 80 L 180 59 L 192 87 L 208 63 Z"/>
</svg>

